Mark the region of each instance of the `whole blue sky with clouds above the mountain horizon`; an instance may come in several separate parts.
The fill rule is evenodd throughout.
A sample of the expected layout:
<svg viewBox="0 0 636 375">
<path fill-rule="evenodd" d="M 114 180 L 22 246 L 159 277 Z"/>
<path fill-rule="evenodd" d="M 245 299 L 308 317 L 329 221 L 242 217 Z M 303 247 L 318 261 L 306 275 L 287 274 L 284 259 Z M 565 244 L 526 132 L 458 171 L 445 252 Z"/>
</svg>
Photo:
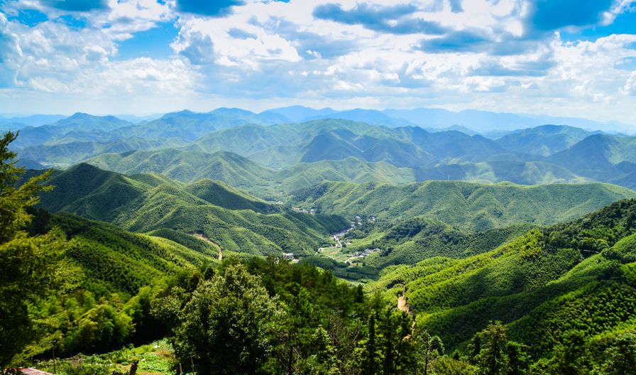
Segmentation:
<svg viewBox="0 0 636 375">
<path fill-rule="evenodd" d="M 0 114 L 294 104 L 636 124 L 636 1 L 0 0 Z"/>
</svg>

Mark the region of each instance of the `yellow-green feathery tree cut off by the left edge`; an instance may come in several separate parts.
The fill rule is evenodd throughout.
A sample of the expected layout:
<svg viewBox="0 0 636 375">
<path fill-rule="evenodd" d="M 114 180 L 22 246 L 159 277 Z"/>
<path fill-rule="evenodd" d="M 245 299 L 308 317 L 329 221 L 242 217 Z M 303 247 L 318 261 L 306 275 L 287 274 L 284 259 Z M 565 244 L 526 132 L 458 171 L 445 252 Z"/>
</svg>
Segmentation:
<svg viewBox="0 0 636 375">
<path fill-rule="evenodd" d="M 33 340 L 33 319 L 28 305 L 63 283 L 67 266 L 62 261 L 66 237 L 59 230 L 29 237 L 27 210 L 38 203 L 38 194 L 50 190 L 42 183 L 50 171 L 18 186 L 24 168 L 16 166 L 9 143 L 17 134 L 0 138 L 0 367 Z"/>
</svg>

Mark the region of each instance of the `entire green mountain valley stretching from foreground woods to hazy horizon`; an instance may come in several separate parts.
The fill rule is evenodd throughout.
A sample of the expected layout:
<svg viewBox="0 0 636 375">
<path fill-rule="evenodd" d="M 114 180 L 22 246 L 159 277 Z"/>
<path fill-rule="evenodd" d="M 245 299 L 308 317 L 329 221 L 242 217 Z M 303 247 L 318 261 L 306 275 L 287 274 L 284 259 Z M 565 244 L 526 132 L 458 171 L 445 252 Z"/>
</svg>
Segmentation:
<svg viewBox="0 0 636 375">
<path fill-rule="evenodd" d="M 478 368 L 479 337 L 503 330 L 531 371 L 561 360 L 555 348 L 573 332 L 608 358 L 603 348 L 635 330 L 630 136 L 546 125 L 488 138 L 324 116 L 76 114 L 21 128 L 4 151 L 28 168 L 15 186 L 41 179 L 42 191 L 24 201 L 30 224 L 0 247 L 60 246 L 51 261 L 65 283 L 31 305 L 10 300 L 38 339 L 6 361 L 50 370 L 55 347 L 95 354 L 98 371 L 111 368 L 104 353 L 132 344 L 155 356 L 144 345 L 164 339 L 162 373 L 176 359 L 218 365 L 231 354 L 189 353 L 212 345 L 192 341 L 198 314 L 221 314 L 214 345 L 234 342 L 224 306 L 250 316 L 232 330 L 263 335 L 273 366 L 296 371 L 317 368 L 305 361 L 321 327 L 340 337 L 324 354 L 333 366 L 377 358 L 386 374 L 419 368 L 390 353 L 415 353 L 426 335 L 456 353 L 437 351 L 436 366 Z M 121 356 L 128 371 L 134 357 Z"/>
</svg>

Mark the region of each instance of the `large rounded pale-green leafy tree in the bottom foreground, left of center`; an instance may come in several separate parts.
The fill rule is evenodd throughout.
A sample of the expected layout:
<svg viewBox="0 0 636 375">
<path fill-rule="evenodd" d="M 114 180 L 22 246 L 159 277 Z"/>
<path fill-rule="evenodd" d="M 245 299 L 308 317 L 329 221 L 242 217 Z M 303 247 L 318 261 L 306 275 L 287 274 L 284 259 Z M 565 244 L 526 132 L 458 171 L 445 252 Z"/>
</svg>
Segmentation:
<svg viewBox="0 0 636 375">
<path fill-rule="evenodd" d="M 283 317 L 245 266 L 232 265 L 201 283 L 179 314 L 172 344 L 201 374 L 260 374 L 273 347 L 272 325 Z"/>
</svg>

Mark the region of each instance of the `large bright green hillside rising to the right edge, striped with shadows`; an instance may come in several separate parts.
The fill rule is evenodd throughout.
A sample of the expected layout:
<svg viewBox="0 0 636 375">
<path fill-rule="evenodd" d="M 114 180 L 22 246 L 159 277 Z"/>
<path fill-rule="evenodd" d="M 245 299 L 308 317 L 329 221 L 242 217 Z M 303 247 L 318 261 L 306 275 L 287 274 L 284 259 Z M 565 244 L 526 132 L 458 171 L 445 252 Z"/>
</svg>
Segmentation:
<svg viewBox="0 0 636 375">
<path fill-rule="evenodd" d="M 369 290 L 405 290 L 417 320 L 446 347 L 499 320 L 512 339 L 547 354 L 565 332 L 591 339 L 636 329 L 636 200 L 532 229 L 493 251 L 436 257 L 383 271 Z"/>
</svg>

